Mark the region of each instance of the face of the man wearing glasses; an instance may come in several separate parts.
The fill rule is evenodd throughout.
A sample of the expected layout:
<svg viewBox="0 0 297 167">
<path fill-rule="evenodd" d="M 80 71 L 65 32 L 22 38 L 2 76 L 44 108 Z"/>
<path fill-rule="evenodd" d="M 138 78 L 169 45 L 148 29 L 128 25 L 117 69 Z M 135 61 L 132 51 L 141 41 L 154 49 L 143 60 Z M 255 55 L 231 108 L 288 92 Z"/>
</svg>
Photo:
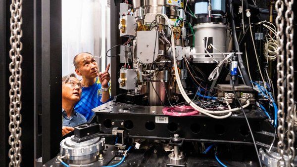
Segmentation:
<svg viewBox="0 0 297 167">
<path fill-rule="evenodd" d="M 75 77 L 70 77 L 67 83 L 62 83 L 62 99 L 78 102 L 82 95 L 81 83 Z"/>
</svg>

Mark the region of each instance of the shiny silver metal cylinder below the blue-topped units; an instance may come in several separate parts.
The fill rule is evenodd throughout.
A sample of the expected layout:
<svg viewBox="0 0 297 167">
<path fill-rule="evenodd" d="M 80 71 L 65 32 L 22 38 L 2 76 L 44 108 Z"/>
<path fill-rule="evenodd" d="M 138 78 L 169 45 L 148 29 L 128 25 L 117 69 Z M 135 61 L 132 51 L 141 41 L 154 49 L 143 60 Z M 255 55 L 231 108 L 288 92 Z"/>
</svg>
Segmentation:
<svg viewBox="0 0 297 167">
<path fill-rule="evenodd" d="M 195 31 L 195 49 L 196 53 L 205 53 L 205 38 L 212 37 L 212 44 L 214 47 L 213 52 L 226 52 L 226 30 L 227 26 L 224 24 L 210 24 L 210 23 L 204 23 L 200 25 L 196 25 L 193 27 Z M 210 46 L 211 47 L 211 46 Z M 210 53 L 211 54 L 211 53 Z M 204 55 L 194 55 L 194 62 L 205 62 L 205 63 L 213 63 L 215 62 L 210 57 Z M 224 59 L 224 56 L 222 54 L 214 55 L 214 58 L 218 60 Z"/>
</svg>

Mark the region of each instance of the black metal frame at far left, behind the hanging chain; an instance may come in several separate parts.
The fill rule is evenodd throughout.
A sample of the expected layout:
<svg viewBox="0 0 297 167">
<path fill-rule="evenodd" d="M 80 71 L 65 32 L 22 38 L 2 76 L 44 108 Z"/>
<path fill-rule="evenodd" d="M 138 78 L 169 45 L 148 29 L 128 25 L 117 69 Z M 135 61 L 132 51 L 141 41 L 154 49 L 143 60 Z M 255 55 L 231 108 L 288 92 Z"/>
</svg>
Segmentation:
<svg viewBox="0 0 297 167">
<path fill-rule="evenodd" d="M 10 147 L 9 5 L 10 1 L 0 0 L 0 162 L 3 166 L 8 166 Z M 56 118 L 61 118 L 61 0 L 25 0 L 22 16 L 21 165 L 33 167 L 34 159 L 43 157 L 43 162 L 47 162 L 59 152 L 62 123 Z"/>
</svg>

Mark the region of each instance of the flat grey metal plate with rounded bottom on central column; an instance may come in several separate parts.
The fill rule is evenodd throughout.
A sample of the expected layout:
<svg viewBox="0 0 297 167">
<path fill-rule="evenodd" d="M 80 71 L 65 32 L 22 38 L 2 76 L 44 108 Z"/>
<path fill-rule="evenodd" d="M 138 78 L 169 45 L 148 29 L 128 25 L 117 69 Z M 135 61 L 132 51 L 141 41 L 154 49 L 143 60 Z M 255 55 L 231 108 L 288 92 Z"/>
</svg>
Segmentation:
<svg viewBox="0 0 297 167">
<path fill-rule="evenodd" d="M 150 64 L 154 62 L 158 57 L 158 50 L 159 50 L 158 33 L 156 33 L 155 30 L 138 31 L 136 33 L 136 37 L 137 37 L 137 46 L 136 46 L 137 58 L 144 64 Z"/>
</svg>

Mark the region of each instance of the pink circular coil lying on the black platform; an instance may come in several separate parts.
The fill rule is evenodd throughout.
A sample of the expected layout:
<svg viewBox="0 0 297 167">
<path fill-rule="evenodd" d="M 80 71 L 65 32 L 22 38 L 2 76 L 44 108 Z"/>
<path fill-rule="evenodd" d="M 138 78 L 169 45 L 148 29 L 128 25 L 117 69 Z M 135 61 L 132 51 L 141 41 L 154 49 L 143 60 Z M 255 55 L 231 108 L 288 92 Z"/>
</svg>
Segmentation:
<svg viewBox="0 0 297 167">
<path fill-rule="evenodd" d="M 162 112 L 165 115 L 176 117 L 192 116 L 199 113 L 191 106 L 164 107 Z"/>
</svg>

